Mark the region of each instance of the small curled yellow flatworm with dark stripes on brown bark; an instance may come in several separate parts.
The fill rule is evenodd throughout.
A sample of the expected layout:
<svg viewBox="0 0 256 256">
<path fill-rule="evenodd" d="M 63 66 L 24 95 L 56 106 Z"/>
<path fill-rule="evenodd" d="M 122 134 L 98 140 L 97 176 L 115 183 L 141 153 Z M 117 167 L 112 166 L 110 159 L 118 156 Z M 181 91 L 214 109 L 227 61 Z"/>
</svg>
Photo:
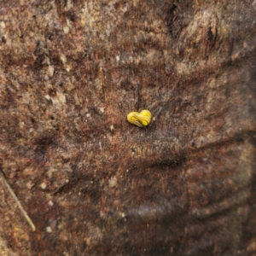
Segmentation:
<svg viewBox="0 0 256 256">
<path fill-rule="evenodd" d="M 127 120 L 132 125 L 137 125 L 138 127 L 148 126 L 151 121 L 152 114 L 143 109 L 140 113 L 131 112 L 127 114 Z"/>
</svg>

